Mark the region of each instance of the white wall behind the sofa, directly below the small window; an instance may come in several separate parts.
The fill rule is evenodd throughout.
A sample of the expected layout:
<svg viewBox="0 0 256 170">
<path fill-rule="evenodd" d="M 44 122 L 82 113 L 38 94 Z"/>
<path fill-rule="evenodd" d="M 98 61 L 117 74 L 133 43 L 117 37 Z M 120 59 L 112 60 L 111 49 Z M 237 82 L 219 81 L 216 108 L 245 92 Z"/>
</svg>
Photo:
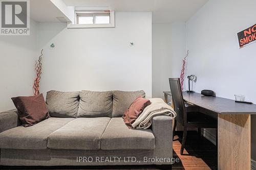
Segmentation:
<svg viewBox="0 0 256 170">
<path fill-rule="evenodd" d="M 115 28 L 98 29 L 38 23 L 37 44 L 44 48 L 41 92 L 143 89 L 151 98 L 152 13 L 117 12 L 115 19 Z"/>
</svg>

